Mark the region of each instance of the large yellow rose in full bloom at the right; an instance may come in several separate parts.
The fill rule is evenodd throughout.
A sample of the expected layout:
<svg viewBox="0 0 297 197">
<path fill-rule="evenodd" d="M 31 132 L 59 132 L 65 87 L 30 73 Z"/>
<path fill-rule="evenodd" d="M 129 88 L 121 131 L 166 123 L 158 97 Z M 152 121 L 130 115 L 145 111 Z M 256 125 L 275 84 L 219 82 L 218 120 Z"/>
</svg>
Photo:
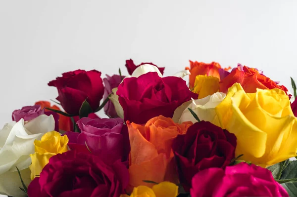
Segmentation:
<svg viewBox="0 0 297 197">
<path fill-rule="evenodd" d="M 297 118 L 283 90 L 246 93 L 236 83 L 216 112 L 222 128 L 236 135 L 241 159 L 267 167 L 297 156 Z"/>
</svg>

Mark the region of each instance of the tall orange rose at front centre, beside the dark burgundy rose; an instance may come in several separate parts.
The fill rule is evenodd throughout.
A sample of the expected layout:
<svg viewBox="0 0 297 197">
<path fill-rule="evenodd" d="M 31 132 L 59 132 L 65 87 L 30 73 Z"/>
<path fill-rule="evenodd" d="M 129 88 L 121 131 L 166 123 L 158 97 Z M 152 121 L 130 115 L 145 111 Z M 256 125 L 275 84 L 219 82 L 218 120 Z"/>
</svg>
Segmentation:
<svg viewBox="0 0 297 197">
<path fill-rule="evenodd" d="M 177 182 L 172 141 L 178 134 L 185 134 L 192 124 L 190 121 L 178 124 L 163 116 L 151 118 L 144 126 L 127 121 L 131 144 L 129 173 L 132 188 L 153 186 L 143 180 Z"/>
</svg>

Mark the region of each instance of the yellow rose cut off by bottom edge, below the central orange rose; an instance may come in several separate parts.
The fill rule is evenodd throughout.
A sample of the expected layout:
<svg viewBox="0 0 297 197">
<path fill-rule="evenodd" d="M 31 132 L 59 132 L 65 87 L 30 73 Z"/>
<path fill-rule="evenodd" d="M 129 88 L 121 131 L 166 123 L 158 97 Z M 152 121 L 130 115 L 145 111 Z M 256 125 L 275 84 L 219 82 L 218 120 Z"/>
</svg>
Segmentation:
<svg viewBox="0 0 297 197">
<path fill-rule="evenodd" d="M 178 186 L 171 182 L 161 182 L 149 188 L 148 186 L 138 186 L 133 189 L 130 197 L 177 197 Z M 129 197 L 121 195 L 121 197 Z"/>
</svg>

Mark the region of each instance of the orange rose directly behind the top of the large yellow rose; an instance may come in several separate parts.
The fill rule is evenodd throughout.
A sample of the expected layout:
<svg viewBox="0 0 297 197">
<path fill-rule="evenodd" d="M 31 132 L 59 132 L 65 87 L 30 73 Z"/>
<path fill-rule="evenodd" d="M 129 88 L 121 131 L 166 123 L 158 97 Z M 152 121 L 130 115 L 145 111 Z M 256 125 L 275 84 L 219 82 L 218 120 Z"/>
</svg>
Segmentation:
<svg viewBox="0 0 297 197">
<path fill-rule="evenodd" d="M 234 83 L 240 83 L 247 93 L 255 93 L 259 89 L 274 89 L 279 88 L 284 92 L 288 89 L 284 85 L 278 85 L 273 80 L 260 74 L 257 69 L 242 67 L 239 65 L 227 77 L 220 81 L 220 91 L 227 92 L 228 88 Z"/>
</svg>

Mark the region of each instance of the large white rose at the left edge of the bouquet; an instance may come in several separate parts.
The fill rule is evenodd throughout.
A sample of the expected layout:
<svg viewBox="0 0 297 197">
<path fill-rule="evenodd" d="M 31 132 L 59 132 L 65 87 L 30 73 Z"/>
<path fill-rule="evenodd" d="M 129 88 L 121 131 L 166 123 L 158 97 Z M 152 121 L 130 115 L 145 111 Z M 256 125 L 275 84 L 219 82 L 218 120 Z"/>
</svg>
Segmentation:
<svg viewBox="0 0 297 197">
<path fill-rule="evenodd" d="M 0 130 L 0 194 L 13 197 L 25 197 L 17 169 L 28 186 L 31 182 L 29 165 L 30 154 L 34 154 L 34 140 L 40 140 L 46 132 L 54 130 L 52 115 L 41 115 L 24 122 L 12 121 Z"/>
</svg>

